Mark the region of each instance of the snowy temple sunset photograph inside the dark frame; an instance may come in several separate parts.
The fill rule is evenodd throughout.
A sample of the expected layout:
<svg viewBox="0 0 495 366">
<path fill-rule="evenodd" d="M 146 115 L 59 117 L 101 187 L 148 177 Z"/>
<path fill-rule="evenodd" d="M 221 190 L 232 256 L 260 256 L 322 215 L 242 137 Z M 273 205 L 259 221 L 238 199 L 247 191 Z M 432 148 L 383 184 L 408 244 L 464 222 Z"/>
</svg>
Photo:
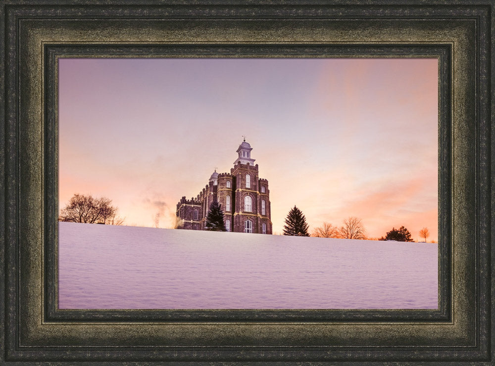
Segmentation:
<svg viewBox="0 0 495 366">
<path fill-rule="evenodd" d="M 438 309 L 438 59 L 57 60 L 58 309 Z"/>
</svg>

